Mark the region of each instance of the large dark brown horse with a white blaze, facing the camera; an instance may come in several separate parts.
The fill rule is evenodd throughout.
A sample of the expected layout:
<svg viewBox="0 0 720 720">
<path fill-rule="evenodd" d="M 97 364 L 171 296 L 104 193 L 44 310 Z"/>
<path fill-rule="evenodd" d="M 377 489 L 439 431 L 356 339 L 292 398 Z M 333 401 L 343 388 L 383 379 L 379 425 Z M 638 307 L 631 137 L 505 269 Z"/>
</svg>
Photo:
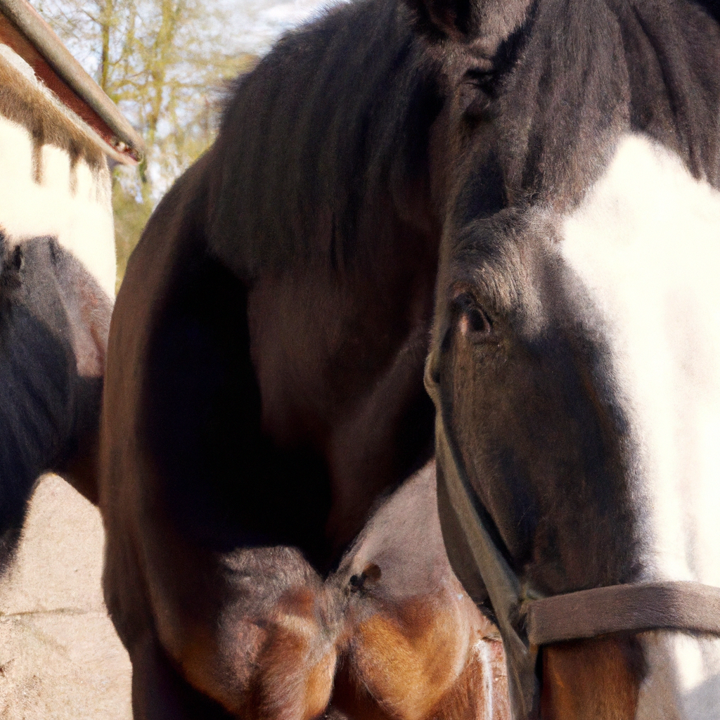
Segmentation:
<svg viewBox="0 0 720 720">
<path fill-rule="evenodd" d="M 318 585 L 433 455 L 428 350 L 446 546 L 503 632 L 453 473 L 528 598 L 720 584 L 717 10 L 362 0 L 240 78 L 109 338 L 104 588 L 136 718 L 433 716 L 358 701 Z M 717 641 L 654 627 L 526 646 L 516 716 L 712 716 Z"/>
</svg>

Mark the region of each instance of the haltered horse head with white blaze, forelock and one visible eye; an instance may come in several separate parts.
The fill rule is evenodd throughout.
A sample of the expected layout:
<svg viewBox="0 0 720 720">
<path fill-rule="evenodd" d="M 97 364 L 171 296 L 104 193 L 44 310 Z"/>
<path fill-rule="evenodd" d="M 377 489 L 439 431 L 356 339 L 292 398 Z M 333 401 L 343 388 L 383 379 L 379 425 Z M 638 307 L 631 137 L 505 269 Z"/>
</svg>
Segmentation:
<svg viewBox="0 0 720 720">
<path fill-rule="evenodd" d="M 705 717 L 717 631 L 680 619 L 699 586 L 657 621 L 610 616 L 631 586 L 720 585 L 716 19 L 644 2 L 413 11 L 445 95 L 426 386 L 451 563 L 498 618 L 517 717 Z M 599 629 L 533 625 L 534 601 L 597 588 Z"/>
</svg>

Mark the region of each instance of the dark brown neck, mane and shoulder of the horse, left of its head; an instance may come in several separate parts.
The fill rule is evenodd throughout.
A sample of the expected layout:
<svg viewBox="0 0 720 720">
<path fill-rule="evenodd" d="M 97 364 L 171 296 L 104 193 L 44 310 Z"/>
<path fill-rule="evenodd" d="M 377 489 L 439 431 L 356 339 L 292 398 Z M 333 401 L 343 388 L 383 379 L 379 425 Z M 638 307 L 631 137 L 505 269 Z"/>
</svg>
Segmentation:
<svg viewBox="0 0 720 720">
<path fill-rule="evenodd" d="M 130 260 L 100 505 L 138 718 L 210 716 L 206 697 L 246 716 L 266 683 L 253 658 L 276 642 L 251 618 L 311 582 L 292 557 L 331 570 L 378 495 L 433 455 L 441 99 L 407 15 L 348 6 L 284 41 Z M 326 102 L 343 88 L 358 107 Z"/>
</svg>

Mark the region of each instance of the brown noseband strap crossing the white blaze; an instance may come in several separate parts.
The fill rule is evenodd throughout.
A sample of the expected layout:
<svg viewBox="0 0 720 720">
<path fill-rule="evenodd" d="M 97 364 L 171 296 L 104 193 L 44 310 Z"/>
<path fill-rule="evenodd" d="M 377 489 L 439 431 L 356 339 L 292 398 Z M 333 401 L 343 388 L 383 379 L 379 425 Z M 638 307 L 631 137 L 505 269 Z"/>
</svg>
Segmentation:
<svg viewBox="0 0 720 720">
<path fill-rule="evenodd" d="M 700 582 L 611 585 L 532 600 L 523 609 L 534 645 L 657 629 L 720 635 L 720 588 Z"/>
</svg>

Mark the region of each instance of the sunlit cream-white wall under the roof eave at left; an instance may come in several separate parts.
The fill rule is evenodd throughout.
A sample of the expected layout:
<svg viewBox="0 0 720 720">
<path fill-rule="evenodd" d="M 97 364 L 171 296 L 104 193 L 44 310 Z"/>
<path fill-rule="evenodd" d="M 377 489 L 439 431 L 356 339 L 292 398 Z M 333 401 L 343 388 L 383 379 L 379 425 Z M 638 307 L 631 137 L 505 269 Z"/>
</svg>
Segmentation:
<svg viewBox="0 0 720 720">
<path fill-rule="evenodd" d="M 7 50 L 0 53 L 0 62 L 6 61 L 7 55 Z M 107 165 L 91 168 L 82 158 L 73 163 L 66 150 L 53 145 L 42 145 L 33 158 L 33 147 L 26 127 L 0 116 L 0 227 L 14 240 L 39 235 L 58 238 L 109 297 L 114 297 L 114 228 Z"/>
</svg>

